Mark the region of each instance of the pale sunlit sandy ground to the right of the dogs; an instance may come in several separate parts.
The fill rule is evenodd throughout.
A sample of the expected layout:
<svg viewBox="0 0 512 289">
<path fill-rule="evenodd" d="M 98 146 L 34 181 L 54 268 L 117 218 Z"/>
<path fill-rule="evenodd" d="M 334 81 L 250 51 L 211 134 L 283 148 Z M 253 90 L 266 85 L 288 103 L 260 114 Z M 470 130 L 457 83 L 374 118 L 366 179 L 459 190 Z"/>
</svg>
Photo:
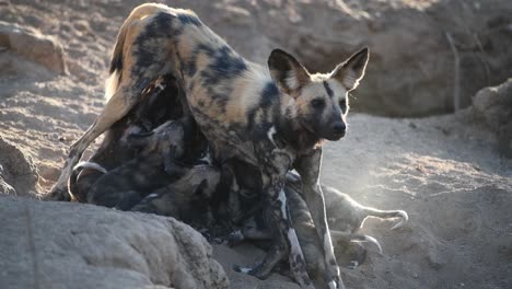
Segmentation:
<svg viewBox="0 0 512 289">
<path fill-rule="evenodd" d="M 512 163 L 472 111 L 424 119 L 356 115 L 328 143 L 323 180 L 365 205 L 402 208 L 400 231 L 369 220 L 384 256 L 349 271 L 358 288 L 507 288 Z M 492 276 L 492 277 L 491 277 Z"/>
</svg>

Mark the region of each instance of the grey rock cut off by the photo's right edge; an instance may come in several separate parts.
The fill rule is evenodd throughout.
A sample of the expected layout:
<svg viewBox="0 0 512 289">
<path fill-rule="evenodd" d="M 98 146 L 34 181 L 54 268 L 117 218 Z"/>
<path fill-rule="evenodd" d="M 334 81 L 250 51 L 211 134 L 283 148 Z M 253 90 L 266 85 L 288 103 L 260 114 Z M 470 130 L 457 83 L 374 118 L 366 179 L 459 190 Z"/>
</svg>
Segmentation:
<svg viewBox="0 0 512 289">
<path fill-rule="evenodd" d="M 476 118 L 497 134 L 500 152 L 512 158 L 512 78 L 480 90 L 473 99 L 473 109 Z"/>
</svg>

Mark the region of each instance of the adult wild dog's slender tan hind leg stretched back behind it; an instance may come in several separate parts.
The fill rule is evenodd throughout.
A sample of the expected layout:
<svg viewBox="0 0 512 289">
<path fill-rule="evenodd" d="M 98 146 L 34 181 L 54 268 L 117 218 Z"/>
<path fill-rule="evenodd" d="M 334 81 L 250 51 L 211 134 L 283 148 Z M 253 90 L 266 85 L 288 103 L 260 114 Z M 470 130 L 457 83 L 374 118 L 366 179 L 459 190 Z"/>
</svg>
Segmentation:
<svg viewBox="0 0 512 289">
<path fill-rule="evenodd" d="M 73 166 L 80 161 L 85 149 L 103 132 L 112 127 L 114 123 L 121 119 L 137 104 L 141 92 L 150 84 L 151 78 L 146 76 L 158 76 L 160 69 L 148 69 L 144 76 L 130 78 L 129 71 L 119 84 L 116 93 L 108 100 L 102 113 L 89 127 L 85 134 L 77 140 L 70 148 L 70 152 L 59 180 L 51 188 L 48 198 L 55 200 L 69 200 L 71 196 L 68 192 L 68 180 Z M 124 71 L 125 72 L 125 71 Z"/>
</svg>

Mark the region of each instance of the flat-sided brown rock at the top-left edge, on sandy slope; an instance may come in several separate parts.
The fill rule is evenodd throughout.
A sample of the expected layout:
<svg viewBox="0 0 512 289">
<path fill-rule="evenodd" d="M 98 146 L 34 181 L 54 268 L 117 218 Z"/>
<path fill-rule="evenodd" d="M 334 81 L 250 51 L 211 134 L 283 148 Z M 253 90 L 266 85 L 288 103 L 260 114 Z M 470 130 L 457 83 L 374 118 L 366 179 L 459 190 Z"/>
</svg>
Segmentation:
<svg viewBox="0 0 512 289">
<path fill-rule="evenodd" d="M 56 38 L 42 35 L 36 30 L 0 21 L 0 47 L 54 72 L 67 73 L 62 45 Z"/>
</svg>

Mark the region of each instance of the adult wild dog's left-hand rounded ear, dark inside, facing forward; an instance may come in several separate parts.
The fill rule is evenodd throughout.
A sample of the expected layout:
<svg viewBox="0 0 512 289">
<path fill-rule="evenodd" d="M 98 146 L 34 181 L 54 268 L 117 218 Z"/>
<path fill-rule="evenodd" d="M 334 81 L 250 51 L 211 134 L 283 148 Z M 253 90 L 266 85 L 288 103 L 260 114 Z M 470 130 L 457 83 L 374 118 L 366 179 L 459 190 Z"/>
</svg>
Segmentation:
<svg viewBox="0 0 512 289">
<path fill-rule="evenodd" d="M 290 54 L 274 49 L 268 57 L 268 68 L 272 80 L 283 93 L 293 92 L 310 82 L 307 70 Z"/>
</svg>

